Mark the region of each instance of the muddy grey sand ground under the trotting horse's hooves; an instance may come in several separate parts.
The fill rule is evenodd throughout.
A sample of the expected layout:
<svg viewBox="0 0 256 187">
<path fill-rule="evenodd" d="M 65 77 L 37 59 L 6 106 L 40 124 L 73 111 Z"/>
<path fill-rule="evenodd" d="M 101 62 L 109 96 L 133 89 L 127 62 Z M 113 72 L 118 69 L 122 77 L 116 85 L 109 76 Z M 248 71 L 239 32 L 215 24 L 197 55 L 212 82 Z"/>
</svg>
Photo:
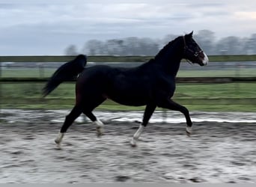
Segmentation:
<svg viewBox="0 0 256 187">
<path fill-rule="evenodd" d="M 58 149 L 64 113 L 1 111 L 0 183 L 256 183 L 253 117 L 198 121 L 191 137 L 183 122 L 151 122 L 130 147 L 139 124 L 108 113 L 101 138 L 91 123 L 77 121 Z"/>
</svg>

